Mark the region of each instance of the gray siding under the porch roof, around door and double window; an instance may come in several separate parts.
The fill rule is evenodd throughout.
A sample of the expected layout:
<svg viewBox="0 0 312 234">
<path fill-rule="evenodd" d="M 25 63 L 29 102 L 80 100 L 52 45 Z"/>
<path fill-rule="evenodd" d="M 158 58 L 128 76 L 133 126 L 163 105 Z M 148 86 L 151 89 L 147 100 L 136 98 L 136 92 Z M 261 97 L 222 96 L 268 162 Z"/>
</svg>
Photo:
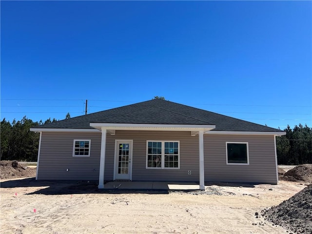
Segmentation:
<svg viewBox="0 0 312 234">
<path fill-rule="evenodd" d="M 199 158 L 198 136 L 191 132 L 171 131 L 116 131 L 115 136 L 107 135 L 105 180 L 113 180 L 115 140 L 133 140 L 132 180 L 157 181 L 198 181 Z M 180 169 L 146 169 L 147 140 L 179 140 Z M 192 171 L 192 175 L 188 175 Z"/>
</svg>

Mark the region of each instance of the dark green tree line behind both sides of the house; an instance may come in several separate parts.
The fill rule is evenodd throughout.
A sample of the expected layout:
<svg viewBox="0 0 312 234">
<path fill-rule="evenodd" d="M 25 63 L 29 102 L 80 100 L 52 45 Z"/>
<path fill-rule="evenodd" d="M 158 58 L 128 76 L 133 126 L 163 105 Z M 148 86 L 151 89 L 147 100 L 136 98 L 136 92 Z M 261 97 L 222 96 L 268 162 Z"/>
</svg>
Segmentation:
<svg viewBox="0 0 312 234">
<path fill-rule="evenodd" d="M 66 117 L 70 118 L 67 113 Z M 29 129 L 45 123 L 57 121 L 48 118 L 34 122 L 26 116 L 21 120 L 15 119 L 10 123 L 5 118 L 1 121 L 0 144 L 1 160 L 37 161 L 39 148 L 39 133 Z M 276 137 L 277 163 L 285 165 L 298 165 L 312 163 L 312 128 L 307 125 L 295 125 L 284 129 L 285 136 Z"/>
</svg>

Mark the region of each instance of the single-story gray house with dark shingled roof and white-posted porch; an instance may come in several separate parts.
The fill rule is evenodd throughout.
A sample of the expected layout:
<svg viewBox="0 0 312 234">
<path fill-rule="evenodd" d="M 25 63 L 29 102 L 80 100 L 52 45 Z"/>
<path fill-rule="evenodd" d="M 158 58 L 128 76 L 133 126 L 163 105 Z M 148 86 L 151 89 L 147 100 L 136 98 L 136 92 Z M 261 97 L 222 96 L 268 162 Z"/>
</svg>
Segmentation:
<svg viewBox="0 0 312 234">
<path fill-rule="evenodd" d="M 277 184 L 278 129 L 153 99 L 47 123 L 36 179 Z"/>
</svg>

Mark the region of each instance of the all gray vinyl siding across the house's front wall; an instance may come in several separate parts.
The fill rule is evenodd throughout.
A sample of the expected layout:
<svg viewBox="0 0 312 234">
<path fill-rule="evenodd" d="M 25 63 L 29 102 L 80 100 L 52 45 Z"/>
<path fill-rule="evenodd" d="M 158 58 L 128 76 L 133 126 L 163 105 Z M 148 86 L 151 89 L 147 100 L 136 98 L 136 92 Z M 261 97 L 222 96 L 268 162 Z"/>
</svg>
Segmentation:
<svg viewBox="0 0 312 234">
<path fill-rule="evenodd" d="M 90 157 L 73 157 L 74 139 L 91 139 Z M 198 136 L 191 132 L 116 131 L 106 136 L 104 180 L 114 179 L 115 140 L 133 140 L 132 180 L 199 181 Z M 179 140 L 179 169 L 146 169 L 147 140 Z M 248 142 L 249 165 L 227 165 L 227 141 Z M 38 179 L 98 180 L 101 133 L 43 132 Z M 204 135 L 205 182 L 276 184 L 273 136 Z M 69 169 L 67 172 L 66 169 Z M 188 175 L 192 171 L 192 175 Z"/>
</svg>

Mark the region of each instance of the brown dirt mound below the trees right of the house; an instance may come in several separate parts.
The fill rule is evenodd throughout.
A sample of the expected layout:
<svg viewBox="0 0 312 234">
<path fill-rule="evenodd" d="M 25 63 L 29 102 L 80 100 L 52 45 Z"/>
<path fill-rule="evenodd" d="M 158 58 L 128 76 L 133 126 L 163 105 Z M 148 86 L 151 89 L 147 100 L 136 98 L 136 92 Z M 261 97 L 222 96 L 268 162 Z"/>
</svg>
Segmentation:
<svg viewBox="0 0 312 234">
<path fill-rule="evenodd" d="M 302 164 L 296 166 L 286 172 L 281 179 L 294 182 L 312 182 L 312 164 Z"/>
</svg>

